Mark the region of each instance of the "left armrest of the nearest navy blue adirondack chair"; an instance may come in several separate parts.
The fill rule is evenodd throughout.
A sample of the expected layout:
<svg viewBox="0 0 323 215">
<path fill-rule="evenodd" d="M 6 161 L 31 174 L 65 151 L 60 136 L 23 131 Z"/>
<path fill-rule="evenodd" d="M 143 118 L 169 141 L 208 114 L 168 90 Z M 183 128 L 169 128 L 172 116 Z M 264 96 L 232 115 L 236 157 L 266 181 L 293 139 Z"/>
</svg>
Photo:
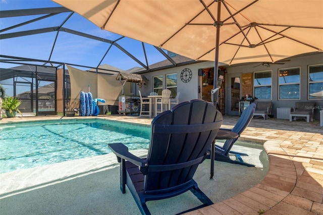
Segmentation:
<svg viewBox="0 0 323 215">
<path fill-rule="evenodd" d="M 122 143 L 110 143 L 107 146 L 117 155 L 118 162 L 121 162 L 121 158 L 128 160 L 129 162 L 137 165 L 138 167 L 146 167 L 148 165 L 146 159 L 137 157 L 136 155 L 129 152 L 127 146 Z"/>
</svg>

